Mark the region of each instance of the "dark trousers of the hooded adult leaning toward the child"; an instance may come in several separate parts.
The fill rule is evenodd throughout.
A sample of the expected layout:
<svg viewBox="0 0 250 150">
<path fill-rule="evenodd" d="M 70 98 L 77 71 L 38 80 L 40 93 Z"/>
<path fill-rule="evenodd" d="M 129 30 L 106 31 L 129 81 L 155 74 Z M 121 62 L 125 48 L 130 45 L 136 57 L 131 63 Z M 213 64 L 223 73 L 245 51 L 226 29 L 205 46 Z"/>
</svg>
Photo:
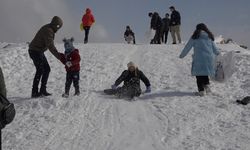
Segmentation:
<svg viewBox="0 0 250 150">
<path fill-rule="evenodd" d="M 49 78 L 50 66 L 44 53 L 29 50 L 30 58 L 36 67 L 36 73 L 33 80 L 32 92 L 38 93 L 38 85 L 41 80 L 41 91 L 46 91 L 46 85 Z"/>
</svg>

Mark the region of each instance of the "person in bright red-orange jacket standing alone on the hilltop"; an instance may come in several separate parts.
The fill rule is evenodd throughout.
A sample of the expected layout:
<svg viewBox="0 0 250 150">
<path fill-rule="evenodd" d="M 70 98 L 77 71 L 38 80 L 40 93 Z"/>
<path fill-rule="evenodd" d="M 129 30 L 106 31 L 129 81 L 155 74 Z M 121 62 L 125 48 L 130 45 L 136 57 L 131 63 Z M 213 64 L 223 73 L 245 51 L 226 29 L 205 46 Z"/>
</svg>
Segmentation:
<svg viewBox="0 0 250 150">
<path fill-rule="evenodd" d="M 83 29 L 85 31 L 85 38 L 84 38 L 85 44 L 88 43 L 89 30 L 94 22 L 95 22 L 95 18 L 93 16 L 93 14 L 91 13 L 91 10 L 89 8 L 87 8 L 86 13 L 82 17 L 82 25 L 83 25 Z"/>
</svg>

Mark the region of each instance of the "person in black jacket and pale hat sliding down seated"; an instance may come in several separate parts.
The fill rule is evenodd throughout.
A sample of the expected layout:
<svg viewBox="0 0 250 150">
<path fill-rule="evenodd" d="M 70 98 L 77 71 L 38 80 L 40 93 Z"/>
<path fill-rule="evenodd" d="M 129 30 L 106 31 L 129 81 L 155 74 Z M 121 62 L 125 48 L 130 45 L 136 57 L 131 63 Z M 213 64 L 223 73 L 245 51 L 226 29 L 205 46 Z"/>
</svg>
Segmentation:
<svg viewBox="0 0 250 150">
<path fill-rule="evenodd" d="M 111 87 L 117 89 L 118 96 L 128 96 L 133 98 L 134 96 L 141 95 L 140 80 L 142 80 L 146 86 L 146 93 L 151 92 L 150 82 L 142 71 L 133 63 L 128 63 L 128 70 L 122 72 L 121 76 L 115 81 Z M 118 87 L 122 82 L 123 86 Z"/>
</svg>

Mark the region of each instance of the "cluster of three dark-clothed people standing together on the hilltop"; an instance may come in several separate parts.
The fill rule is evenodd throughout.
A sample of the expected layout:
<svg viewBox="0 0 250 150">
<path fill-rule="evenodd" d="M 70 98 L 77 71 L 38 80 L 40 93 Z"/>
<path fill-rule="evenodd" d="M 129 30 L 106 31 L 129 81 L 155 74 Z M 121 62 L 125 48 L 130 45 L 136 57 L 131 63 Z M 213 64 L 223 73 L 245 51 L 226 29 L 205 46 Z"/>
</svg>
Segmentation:
<svg viewBox="0 0 250 150">
<path fill-rule="evenodd" d="M 176 44 L 176 36 L 178 42 L 181 43 L 180 36 L 180 25 L 181 25 L 181 16 L 180 13 L 175 9 L 174 6 L 169 7 L 171 15 L 168 13 L 165 14 L 165 17 L 161 19 L 157 12 L 150 12 L 148 16 L 151 18 L 150 28 L 155 30 L 155 36 L 151 40 L 151 44 L 161 44 L 167 43 L 168 32 L 170 31 L 173 43 Z"/>
</svg>

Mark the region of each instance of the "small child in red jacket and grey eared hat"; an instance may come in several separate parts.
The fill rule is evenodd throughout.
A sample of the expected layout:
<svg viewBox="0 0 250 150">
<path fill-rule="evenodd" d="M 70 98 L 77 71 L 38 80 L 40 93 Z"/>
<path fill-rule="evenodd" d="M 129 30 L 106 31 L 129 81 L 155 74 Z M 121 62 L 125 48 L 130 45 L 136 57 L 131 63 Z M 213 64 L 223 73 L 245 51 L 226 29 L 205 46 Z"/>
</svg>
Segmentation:
<svg viewBox="0 0 250 150">
<path fill-rule="evenodd" d="M 63 39 L 65 53 L 62 54 L 64 55 L 64 57 L 61 57 L 61 62 L 65 65 L 67 75 L 65 83 L 65 93 L 62 95 L 62 97 L 65 98 L 69 97 L 69 91 L 72 82 L 75 87 L 75 95 L 80 95 L 79 72 L 81 57 L 79 54 L 79 50 L 74 48 L 73 41 L 73 37 L 71 39 Z"/>
</svg>

